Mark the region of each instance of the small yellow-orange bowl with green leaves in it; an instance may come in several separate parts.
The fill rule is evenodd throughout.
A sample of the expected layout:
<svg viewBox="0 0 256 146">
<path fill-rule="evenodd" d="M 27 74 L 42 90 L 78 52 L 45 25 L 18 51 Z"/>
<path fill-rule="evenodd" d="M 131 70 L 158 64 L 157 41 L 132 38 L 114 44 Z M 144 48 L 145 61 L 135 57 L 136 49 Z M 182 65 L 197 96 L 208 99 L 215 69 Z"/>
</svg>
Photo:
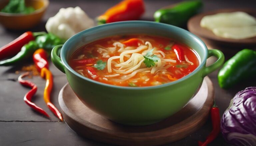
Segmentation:
<svg viewBox="0 0 256 146">
<path fill-rule="evenodd" d="M 0 10 L 3 9 L 9 0 L 0 1 Z M 31 6 L 36 9 L 30 14 L 14 14 L 0 12 L 0 23 L 12 30 L 24 30 L 36 26 L 43 17 L 46 8 L 49 5 L 49 0 L 25 0 L 26 6 Z"/>
</svg>

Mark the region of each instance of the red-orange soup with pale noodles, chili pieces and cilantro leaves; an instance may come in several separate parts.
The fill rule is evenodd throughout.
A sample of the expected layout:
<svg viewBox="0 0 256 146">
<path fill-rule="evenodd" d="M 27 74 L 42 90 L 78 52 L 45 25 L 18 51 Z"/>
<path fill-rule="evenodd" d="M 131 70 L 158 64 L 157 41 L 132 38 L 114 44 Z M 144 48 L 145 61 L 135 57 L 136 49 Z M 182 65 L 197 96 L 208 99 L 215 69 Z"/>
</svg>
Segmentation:
<svg viewBox="0 0 256 146">
<path fill-rule="evenodd" d="M 118 86 L 153 86 L 178 80 L 199 65 L 197 54 L 169 38 L 113 36 L 86 44 L 69 60 L 77 73 Z"/>
</svg>

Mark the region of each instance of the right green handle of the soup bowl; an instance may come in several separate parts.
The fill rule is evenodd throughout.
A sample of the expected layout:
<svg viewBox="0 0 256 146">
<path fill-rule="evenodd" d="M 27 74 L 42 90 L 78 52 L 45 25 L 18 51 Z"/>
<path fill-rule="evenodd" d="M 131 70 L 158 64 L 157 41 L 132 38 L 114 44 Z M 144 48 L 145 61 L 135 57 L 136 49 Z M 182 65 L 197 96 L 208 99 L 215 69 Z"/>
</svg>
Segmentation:
<svg viewBox="0 0 256 146">
<path fill-rule="evenodd" d="M 213 71 L 217 70 L 218 68 L 220 68 L 223 63 L 224 63 L 224 54 L 216 49 L 212 49 L 212 50 L 208 50 L 208 56 L 207 58 L 211 57 L 211 56 L 215 56 L 218 58 L 218 60 L 213 63 L 212 65 L 210 65 L 209 67 L 205 67 L 203 69 L 203 74 L 202 77 L 205 77 L 206 75 L 208 75 L 209 73 L 212 73 Z"/>
</svg>

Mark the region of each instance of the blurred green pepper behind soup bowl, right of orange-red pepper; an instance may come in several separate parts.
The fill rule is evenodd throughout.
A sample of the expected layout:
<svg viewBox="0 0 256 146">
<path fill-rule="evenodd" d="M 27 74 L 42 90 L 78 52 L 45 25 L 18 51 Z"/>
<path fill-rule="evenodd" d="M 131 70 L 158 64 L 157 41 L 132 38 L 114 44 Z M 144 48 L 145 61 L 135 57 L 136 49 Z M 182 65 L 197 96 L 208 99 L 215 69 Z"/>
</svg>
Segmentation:
<svg viewBox="0 0 256 146">
<path fill-rule="evenodd" d="M 201 0 L 178 3 L 172 8 L 157 10 L 154 14 L 156 22 L 184 27 L 190 17 L 197 14 L 203 6 Z"/>
</svg>

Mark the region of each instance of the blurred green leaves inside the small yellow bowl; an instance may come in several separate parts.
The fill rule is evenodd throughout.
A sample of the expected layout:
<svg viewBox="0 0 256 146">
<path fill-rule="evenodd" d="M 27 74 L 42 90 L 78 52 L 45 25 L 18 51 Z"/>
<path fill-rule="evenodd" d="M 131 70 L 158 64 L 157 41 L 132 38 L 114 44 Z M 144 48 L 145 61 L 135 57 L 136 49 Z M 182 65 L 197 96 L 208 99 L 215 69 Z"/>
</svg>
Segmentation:
<svg viewBox="0 0 256 146">
<path fill-rule="evenodd" d="M 25 0 L 10 0 L 9 3 L 1 10 L 5 13 L 29 14 L 34 12 L 33 7 L 26 7 Z"/>
</svg>

